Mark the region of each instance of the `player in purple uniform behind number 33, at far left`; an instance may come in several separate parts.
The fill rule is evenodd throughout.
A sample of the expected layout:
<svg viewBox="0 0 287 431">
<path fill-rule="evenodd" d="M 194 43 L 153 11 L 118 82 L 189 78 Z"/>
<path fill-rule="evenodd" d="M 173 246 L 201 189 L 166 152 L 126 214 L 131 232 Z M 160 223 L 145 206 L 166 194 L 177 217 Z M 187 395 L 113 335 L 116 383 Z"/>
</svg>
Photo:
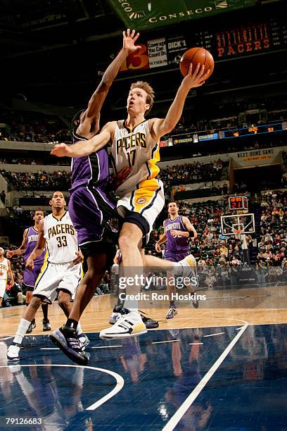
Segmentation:
<svg viewBox="0 0 287 431">
<path fill-rule="evenodd" d="M 30 256 L 32 251 L 34 250 L 37 241 L 38 241 L 38 225 L 41 220 L 44 218 L 44 213 L 42 210 L 37 210 L 34 212 L 33 220 L 34 225 L 27 227 L 27 229 L 24 230 L 23 234 L 23 242 L 20 245 L 20 247 L 16 250 L 11 250 L 7 252 L 7 256 L 11 258 L 12 256 L 15 256 L 15 254 L 24 256 L 24 262 L 26 264 L 27 258 Z M 31 302 L 32 298 L 32 292 L 34 290 L 34 285 L 37 280 L 37 277 L 40 273 L 40 270 L 42 268 L 42 265 L 44 263 L 44 257 L 46 254 L 46 249 L 44 249 L 42 255 L 37 258 L 34 261 L 34 268 L 30 271 L 25 269 L 24 275 L 23 275 L 23 292 L 26 295 L 26 305 L 28 306 Z M 48 318 L 48 304 L 42 304 L 42 311 L 43 311 L 43 331 L 49 331 L 51 330 L 50 322 Z M 36 327 L 35 319 L 32 320 L 30 327 L 27 330 L 27 334 L 30 334 L 32 330 Z"/>
</svg>

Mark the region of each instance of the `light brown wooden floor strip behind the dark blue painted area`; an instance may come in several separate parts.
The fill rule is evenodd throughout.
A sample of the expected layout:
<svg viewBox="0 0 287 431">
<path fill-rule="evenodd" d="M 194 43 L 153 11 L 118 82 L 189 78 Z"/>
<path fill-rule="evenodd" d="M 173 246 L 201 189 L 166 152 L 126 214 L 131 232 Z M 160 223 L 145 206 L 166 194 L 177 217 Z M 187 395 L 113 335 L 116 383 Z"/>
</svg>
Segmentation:
<svg viewBox="0 0 287 431">
<path fill-rule="evenodd" d="M 183 293 L 183 291 L 180 291 Z M 184 291 L 186 292 L 186 291 Z M 231 326 L 242 323 L 264 325 L 287 323 L 287 287 L 253 287 L 248 289 L 208 290 L 199 292 L 206 294 L 206 301 L 200 301 L 198 309 L 186 301 L 179 301 L 178 315 L 167 320 L 168 302 L 145 301 L 139 309 L 151 318 L 158 320 L 159 329 L 184 327 L 215 327 Z M 160 291 L 158 294 L 166 294 Z M 108 318 L 112 311 L 113 298 L 110 294 L 94 296 L 81 319 L 84 332 L 99 332 L 108 326 Z M 0 337 L 15 335 L 19 320 L 25 306 L 13 306 L 0 310 Z M 65 323 L 63 311 L 55 302 L 49 306 L 51 328 Z M 31 335 L 43 335 L 42 310 L 36 315 L 37 327 Z M 49 334 L 49 332 L 45 332 Z"/>
</svg>

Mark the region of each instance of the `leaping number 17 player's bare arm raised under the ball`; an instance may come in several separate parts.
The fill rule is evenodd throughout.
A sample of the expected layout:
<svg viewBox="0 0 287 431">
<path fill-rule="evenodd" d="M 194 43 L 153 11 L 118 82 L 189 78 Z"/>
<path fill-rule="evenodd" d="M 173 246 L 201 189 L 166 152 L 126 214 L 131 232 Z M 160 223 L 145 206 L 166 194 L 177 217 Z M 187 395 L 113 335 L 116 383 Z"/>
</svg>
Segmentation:
<svg viewBox="0 0 287 431">
<path fill-rule="evenodd" d="M 182 80 L 166 117 L 154 118 L 151 120 L 151 133 L 155 139 L 170 133 L 174 129 L 181 118 L 184 102 L 186 101 L 186 96 L 189 94 L 189 90 L 203 85 L 209 73 L 210 70 L 205 71 L 204 65 L 200 67 L 199 63 L 193 71 L 191 63 L 189 66 L 189 73 Z"/>
</svg>

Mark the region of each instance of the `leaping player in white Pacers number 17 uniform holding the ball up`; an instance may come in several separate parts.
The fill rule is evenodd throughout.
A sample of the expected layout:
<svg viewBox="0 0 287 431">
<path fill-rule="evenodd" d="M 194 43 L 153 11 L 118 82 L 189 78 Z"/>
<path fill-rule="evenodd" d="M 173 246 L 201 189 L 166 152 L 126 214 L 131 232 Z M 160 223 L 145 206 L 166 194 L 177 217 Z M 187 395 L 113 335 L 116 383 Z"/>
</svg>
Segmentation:
<svg viewBox="0 0 287 431">
<path fill-rule="evenodd" d="M 145 119 L 153 106 L 153 89 L 146 82 L 135 82 L 130 87 L 127 98 L 127 120 L 108 123 L 99 135 L 86 142 L 72 146 L 58 144 L 51 151 L 51 154 L 60 157 L 82 157 L 112 142 L 115 173 L 125 167 L 131 169 L 125 182 L 115 190 L 120 196 L 117 211 L 124 218 L 119 246 L 122 252 L 120 270 L 126 280 L 129 277 L 134 277 L 135 280 L 136 275 L 142 274 L 142 249 L 148 242 L 155 218 L 162 211 L 165 202 L 162 182 L 157 179 L 160 170 L 156 165 L 160 160 L 160 137 L 170 133 L 177 125 L 189 90 L 203 85 L 209 72 L 205 72 L 204 65 L 200 67 L 200 64 L 193 72 L 190 65 L 188 75 L 182 80 L 166 117 L 162 119 Z M 139 285 L 127 285 L 127 299 L 129 295 L 139 293 L 139 289 Z M 132 337 L 146 332 L 136 301 L 126 300 L 125 306 L 131 312 L 117 320 L 113 327 L 102 330 L 101 339 Z"/>
</svg>

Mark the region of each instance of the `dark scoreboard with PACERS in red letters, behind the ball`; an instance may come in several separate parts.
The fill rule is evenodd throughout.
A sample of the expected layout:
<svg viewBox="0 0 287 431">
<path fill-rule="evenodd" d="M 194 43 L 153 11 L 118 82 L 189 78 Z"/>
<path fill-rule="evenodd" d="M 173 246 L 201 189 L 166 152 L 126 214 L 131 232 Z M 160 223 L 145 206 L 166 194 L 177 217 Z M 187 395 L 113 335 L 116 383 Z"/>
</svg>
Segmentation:
<svg viewBox="0 0 287 431">
<path fill-rule="evenodd" d="M 184 30 L 184 29 L 183 29 Z M 240 24 L 200 27 L 181 35 L 162 32 L 157 39 L 142 40 L 141 49 L 130 54 L 122 71 L 136 71 L 172 65 L 177 68 L 181 55 L 192 46 L 204 46 L 215 61 L 287 49 L 287 21 L 270 18 Z"/>
</svg>

